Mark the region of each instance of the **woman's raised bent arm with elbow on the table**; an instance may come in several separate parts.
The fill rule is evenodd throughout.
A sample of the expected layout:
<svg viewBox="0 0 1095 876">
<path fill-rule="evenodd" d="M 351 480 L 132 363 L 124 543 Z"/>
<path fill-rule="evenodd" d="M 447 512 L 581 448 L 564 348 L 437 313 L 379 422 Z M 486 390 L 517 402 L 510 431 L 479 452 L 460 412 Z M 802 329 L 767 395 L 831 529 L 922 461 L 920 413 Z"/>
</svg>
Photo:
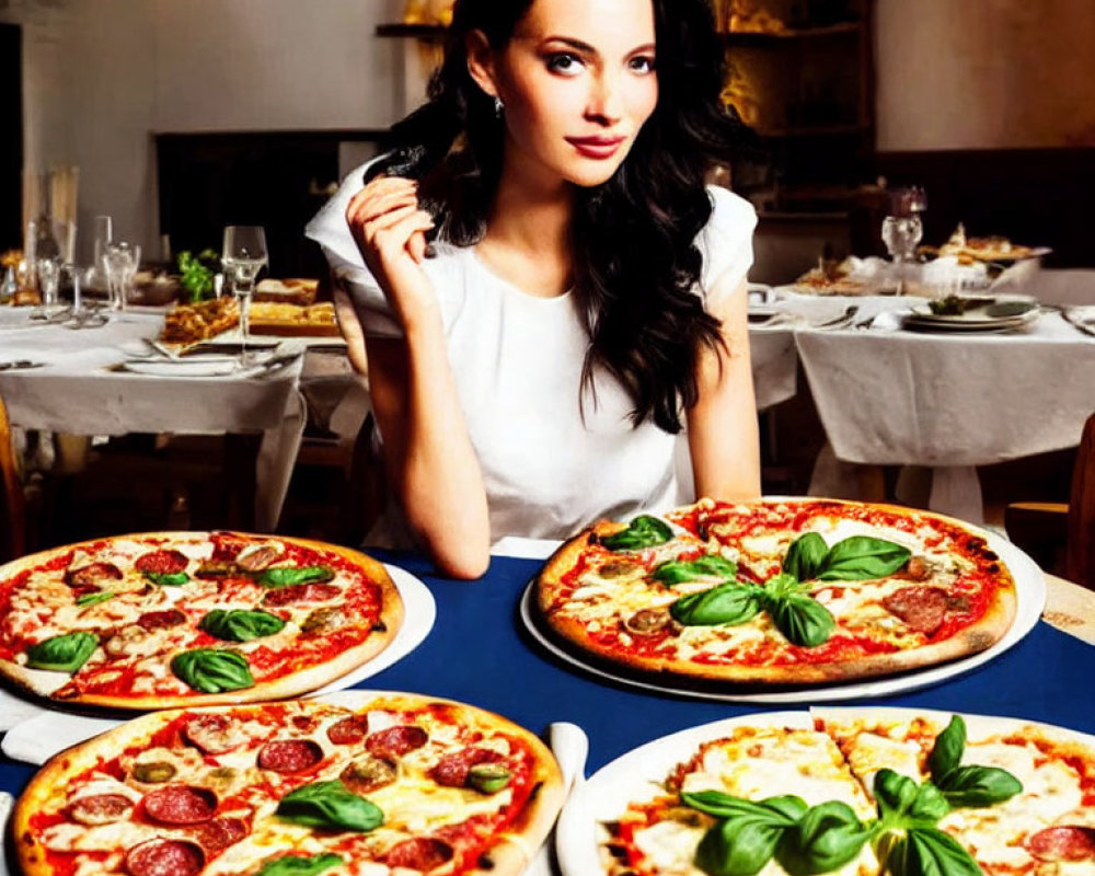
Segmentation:
<svg viewBox="0 0 1095 876">
<path fill-rule="evenodd" d="M 430 219 L 418 209 L 414 184 L 394 177 L 374 180 L 355 195 L 346 219 L 404 333 L 366 337 L 369 393 L 390 483 L 438 568 L 476 578 L 489 564 L 491 525 L 440 308 L 420 264 Z"/>
</svg>

